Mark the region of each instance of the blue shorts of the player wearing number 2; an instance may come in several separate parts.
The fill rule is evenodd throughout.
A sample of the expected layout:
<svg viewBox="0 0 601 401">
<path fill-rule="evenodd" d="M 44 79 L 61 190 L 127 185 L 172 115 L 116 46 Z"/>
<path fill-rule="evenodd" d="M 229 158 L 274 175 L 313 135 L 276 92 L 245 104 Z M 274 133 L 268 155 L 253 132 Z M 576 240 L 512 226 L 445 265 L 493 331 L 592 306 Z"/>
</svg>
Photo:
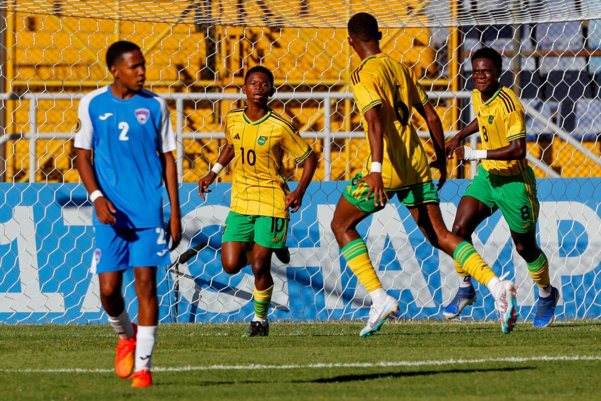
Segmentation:
<svg viewBox="0 0 601 401">
<path fill-rule="evenodd" d="M 165 229 L 94 226 L 93 273 L 171 265 Z"/>
</svg>

